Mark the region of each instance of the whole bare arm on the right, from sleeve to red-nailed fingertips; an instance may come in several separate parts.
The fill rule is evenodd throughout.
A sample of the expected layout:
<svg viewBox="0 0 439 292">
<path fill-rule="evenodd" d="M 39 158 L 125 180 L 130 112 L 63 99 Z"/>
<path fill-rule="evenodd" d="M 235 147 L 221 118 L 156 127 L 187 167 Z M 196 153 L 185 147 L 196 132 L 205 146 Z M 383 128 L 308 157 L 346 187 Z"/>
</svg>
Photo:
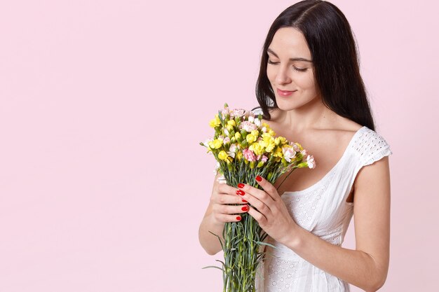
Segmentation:
<svg viewBox="0 0 439 292">
<path fill-rule="evenodd" d="M 276 188 L 261 179 L 264 190 L 245 185 L 243 198 L 253 216 L 273 239 L 312 265 L 367 292 L 377 291 L 386 281 L 390 244 L 389 158 L 360 169 L 354 182 L 356 249 L 326 242 L 295 223 Z"/>
</svg>

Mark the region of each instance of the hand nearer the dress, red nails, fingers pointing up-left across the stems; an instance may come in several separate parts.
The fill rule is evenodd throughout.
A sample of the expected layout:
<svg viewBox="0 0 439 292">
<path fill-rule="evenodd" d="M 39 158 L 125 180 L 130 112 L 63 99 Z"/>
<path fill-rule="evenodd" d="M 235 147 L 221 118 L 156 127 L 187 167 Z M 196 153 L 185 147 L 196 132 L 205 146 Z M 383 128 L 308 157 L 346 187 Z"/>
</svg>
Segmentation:
<svg viewBox="0 0 439 292">
<path fill-rule="evenodd" d="M 283 244 L 288 241 L 288 238 L 291 238 L 298 225 L 291 218 L 287 207 L 273 184 L 261 176 L 257 176 L 256 181 L 263 190 L 240 183 L 238 188 L 243 193 L 240 193 L 240 190 L 236 193 L 257 209 L 250 207 L 248 214 L 255 218 L 259 226 L 274 240 Z"/>
</svg>

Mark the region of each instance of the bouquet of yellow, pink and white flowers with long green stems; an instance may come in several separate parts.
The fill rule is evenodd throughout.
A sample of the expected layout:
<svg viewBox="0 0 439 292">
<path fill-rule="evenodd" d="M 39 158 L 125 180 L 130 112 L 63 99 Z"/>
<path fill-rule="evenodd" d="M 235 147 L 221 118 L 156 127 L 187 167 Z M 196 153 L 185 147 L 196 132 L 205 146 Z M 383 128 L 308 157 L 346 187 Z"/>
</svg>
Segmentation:
<svg viewBox="0 0 439 292">
<path fill-rule="evenodd" d="M 215 156 L 215 172 L 222 174 L 229 186 L 236 188 L 238 183 L 248 183 L 259 188 L 255 183 L 258 175 L 274 184 L 285 172 L 316 167 L 313 156 L 300 144 L 276 137 L 261 120 L 262 115 L 255 116 L 245 109 L 229 109 L 227 104 L 210 120 L 215 135 L 200 144 Z M 218 260 L 222 267 L 217 267 L 223 272 L 223 291 L 254 292 L 257 267 L 264 260 L 264 252 L 259 251 L 259 247 L 270 245 L 264 242 L 267 234 L 252 216 L 243 213 L 241 221 L 225 223 L 224 240 L 215 236 L 224 251 L 224 261 Z"/>
</svg>

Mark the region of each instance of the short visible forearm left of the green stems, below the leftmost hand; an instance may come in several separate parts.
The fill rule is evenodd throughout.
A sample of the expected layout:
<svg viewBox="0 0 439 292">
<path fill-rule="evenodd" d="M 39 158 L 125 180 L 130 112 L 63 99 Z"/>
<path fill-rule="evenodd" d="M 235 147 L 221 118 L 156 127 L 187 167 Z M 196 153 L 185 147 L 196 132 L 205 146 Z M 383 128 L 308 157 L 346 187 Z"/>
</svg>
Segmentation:
<svg viewBox="0 0 439 292">
<path fill-rule="evenodd" d="M 198 239 L 203 249 L 210 255 L 214 255 L 221 251 L 221 244 L 219 238 L 222 239 L 222 230 L 224 229 L 224 223 L 215 223 L 212 220 L 212 214 L 205 216 L 201 221 L 200 228 L 198 229 Z M 212 235 L 212 233 L 215 235 Z"/>
</svg>

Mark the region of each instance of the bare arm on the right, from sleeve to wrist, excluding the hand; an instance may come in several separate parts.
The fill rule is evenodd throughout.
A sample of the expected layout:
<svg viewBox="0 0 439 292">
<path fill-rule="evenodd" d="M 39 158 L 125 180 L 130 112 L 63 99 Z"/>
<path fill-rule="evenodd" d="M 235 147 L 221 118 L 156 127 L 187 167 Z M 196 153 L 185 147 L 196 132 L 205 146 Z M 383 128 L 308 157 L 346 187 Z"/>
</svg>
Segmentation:
<svg viewBox="0 0 439 292">
<path fill-rule="evenodd" d="M 303 228 L 297 228 L 286 244 L 321 270 L 367 292 L 377 291 L 389 270 L 389 158 L 363 167 L 354 190 L 355 250 L 325 242 Z"/>
</svg>

